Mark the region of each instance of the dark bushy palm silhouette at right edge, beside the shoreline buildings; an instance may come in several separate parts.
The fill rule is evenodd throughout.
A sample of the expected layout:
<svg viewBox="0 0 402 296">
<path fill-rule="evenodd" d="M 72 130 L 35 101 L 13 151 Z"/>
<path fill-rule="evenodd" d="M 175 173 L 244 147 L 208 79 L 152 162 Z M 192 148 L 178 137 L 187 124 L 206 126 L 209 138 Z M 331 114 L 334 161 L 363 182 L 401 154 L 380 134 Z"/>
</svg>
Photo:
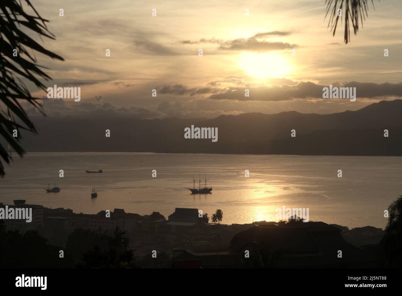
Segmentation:
<svg viewBox="0 0 402 296">
<path fill-rule="evenodd" d="M 388 223 L 381 240 L 388 264 L 402 267 L 402 195 L 388 207 Z"/>
</svg>

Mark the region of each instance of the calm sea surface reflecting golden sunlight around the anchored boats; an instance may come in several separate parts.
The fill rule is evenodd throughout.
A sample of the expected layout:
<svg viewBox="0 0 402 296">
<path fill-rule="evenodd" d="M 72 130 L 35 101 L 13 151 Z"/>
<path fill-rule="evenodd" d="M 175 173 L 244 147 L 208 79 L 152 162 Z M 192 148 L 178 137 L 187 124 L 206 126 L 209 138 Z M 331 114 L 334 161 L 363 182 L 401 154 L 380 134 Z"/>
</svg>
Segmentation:
<svg viewBox="0 0 402 296">
<path fill-rule="evenodd" d="M 201 179 L 207 174 L 212 194 L 191 195 L 185 189 L 193 186 L 193 174 Z M 49 182 L 62 190 L 46 193 Z M 96 199 L 90 198 L 92 185 Z M 402 157 L 28 153 L 15 157 L 0 179 L 0 202 L 8 204 L 26 199 L 75 213 L 159 211 L 166 219 L 175 207 L 198 208 L 209 216 L 221 209 L 224 224 L 275 221 L 275 209 L 285 205 L 309 208 L 312 221 L 384 228 L 384 210 L 401 194 Z"/>
</svg>

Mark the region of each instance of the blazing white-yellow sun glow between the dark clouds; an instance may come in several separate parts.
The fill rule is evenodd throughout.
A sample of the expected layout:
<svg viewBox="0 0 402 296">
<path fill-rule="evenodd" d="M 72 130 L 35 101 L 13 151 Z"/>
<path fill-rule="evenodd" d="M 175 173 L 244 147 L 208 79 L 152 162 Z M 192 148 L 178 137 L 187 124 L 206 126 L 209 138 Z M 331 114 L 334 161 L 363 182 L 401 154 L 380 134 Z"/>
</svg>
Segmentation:
<svg viewBox="0 0 402 296">
<path fill-rule="evenodd" d="M 251 54 L 244 53 L 240 58 L 240 66 L 248 75 L 265 77 L 283 77 L 289 75 L 292 67 L 289 62 L 280 54 Z"/>
</svg>

